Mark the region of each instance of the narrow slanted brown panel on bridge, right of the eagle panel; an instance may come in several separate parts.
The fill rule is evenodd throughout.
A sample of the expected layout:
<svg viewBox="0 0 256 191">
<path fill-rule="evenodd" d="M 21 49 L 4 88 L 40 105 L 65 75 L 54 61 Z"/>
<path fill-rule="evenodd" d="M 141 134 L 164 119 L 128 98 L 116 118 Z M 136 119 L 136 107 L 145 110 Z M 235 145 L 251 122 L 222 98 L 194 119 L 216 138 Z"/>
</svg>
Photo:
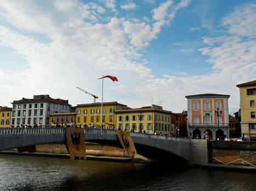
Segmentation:
<svg viewBox="0 0 256 191">
<path fill-rule="evenodd" d="M 130 132 L 126 132 L 124 130 L 117 130 L 116 134 L 124 151 L 126 151 L 126 155 L 128 157 L 134 157 L 137 152 L 134 146 L 132 136 L 130 136 Z"/>
</svg>

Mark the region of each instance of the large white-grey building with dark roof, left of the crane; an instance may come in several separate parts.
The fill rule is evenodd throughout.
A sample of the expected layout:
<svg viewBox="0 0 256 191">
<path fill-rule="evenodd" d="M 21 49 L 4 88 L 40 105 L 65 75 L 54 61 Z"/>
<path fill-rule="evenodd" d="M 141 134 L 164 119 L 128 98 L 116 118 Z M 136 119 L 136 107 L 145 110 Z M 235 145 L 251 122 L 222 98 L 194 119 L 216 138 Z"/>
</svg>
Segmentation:
<svg viewBox="0 0 256 191">
<path fill-rule="evenodd" d="M 49 95 L 37 95 L 32 99 L 22 98 L 13 101 L 12 124 L 13 126 L 38 126 L 46 127 L 50 124 L 50 114 L 70 112 L 69 100 L 53 99 Z"/>
</svg>

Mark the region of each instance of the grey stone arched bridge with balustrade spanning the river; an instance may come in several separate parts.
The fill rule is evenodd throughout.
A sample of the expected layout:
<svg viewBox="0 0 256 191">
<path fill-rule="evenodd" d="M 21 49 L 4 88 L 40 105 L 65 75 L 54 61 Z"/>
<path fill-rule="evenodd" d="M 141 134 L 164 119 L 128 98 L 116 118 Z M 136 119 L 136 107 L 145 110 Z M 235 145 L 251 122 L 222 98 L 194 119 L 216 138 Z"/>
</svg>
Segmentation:
<svg viewBox="0 0 256 191">
<path fill-rule="evenodd" d="M 83 129 L 85 140 L 122 148 L 116 130 Z M 136 152 L 141 156 L 188 162 L 208 163 L 206 140 L 181 139 L 163 135 L 130 132 Z M 0 128 L 0 151 L 32 145 L 66 142 L 65 128 Z"/>
</svg>

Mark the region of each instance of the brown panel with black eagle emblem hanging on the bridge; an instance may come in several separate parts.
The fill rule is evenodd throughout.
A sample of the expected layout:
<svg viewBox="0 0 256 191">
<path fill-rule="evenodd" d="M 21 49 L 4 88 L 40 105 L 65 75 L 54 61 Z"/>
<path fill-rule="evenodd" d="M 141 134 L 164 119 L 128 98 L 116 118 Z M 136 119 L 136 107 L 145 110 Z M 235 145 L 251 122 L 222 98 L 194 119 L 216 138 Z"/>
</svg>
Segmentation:
<svg viewBox="0 0 256 191">
<path fill-rule="evenodd" d="M 66 128 L 66 148 L 70 153 L 70 158 L 86 160 L 86 144 L 84 142 L 85 135 L 81 128 Z"/>
</svg>

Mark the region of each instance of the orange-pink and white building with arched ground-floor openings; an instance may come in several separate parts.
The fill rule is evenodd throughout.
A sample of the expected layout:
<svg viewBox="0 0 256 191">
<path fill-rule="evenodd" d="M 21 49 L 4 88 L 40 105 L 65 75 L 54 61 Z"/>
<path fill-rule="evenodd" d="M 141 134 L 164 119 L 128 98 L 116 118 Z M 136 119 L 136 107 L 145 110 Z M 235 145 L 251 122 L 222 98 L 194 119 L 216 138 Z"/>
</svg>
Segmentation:
<svg viewBox="0 0 256 191">
<path fill-rule="evenodd" d="M 189 136 L 201 139 L 207 131 L 210 138 L 229 138 L 229 95 L 197 94 L 186 96 Z M 218 111 L 219 115 L 216 115 Z"/>
</svg>

